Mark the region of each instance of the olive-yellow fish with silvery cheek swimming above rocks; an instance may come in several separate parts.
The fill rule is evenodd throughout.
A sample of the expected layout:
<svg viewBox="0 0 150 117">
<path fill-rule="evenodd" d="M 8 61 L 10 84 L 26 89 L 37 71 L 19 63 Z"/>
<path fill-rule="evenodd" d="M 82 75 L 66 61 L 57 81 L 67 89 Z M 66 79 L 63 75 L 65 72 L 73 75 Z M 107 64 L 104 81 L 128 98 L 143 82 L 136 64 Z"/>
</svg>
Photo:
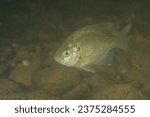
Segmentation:
<svg viewBox="0 0 150 117">
<path fill-rule="evenodd" d="M 127 35 L 131 24 L 119 31 L 110 22 L 88 25 L 70 34 L 56 49 L 58 63 L 95 73 L 93 65 L 108 64 L 114 48 L 128 49 Z"/>
</svg>

